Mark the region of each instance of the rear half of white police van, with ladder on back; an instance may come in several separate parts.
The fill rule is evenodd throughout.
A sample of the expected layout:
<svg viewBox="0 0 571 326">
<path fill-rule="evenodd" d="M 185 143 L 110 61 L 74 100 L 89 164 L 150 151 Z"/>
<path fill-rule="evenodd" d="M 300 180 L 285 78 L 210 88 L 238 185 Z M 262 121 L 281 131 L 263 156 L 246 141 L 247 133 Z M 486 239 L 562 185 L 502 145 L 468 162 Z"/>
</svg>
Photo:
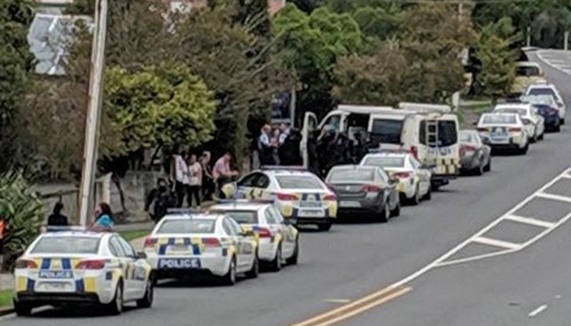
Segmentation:
<svg viewBox="0 0 571 326">
<path fill-rule="evenodd" d="M 460 169 L 459 122 L 449 106 L 399 103 L 399 109 L 371 116 L 367 131 L 380 148 L 410 151 L 433 166 L 435 188 L 455 179 Z"/>
</svg>

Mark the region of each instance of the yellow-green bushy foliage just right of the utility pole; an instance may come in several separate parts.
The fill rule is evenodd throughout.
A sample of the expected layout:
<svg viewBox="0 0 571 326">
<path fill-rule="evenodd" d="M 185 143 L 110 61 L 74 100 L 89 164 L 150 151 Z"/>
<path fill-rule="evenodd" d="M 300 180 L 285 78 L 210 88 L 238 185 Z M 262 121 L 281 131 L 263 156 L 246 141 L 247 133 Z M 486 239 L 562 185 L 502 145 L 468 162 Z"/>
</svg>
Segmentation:
<svg viewBox="0 0 571 326">
<path fill-rule="evenodd" d="M 155 144 L 199 146 L 214 132 L 216 103 L 187 66 L 162 63 L 106 71 L 104 112 L 122 131 L 126 151 Z"/>
</svg>

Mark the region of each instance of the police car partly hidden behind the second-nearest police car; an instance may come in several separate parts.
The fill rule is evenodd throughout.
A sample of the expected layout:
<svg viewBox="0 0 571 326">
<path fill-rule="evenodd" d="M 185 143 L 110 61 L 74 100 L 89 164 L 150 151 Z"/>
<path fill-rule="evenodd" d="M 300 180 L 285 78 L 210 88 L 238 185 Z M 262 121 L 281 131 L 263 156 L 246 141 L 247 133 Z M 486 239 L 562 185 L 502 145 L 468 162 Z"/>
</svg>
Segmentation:
<svg viewBox="0 0 571 326">
<path fill-rule="evenodd" d="M 228 201 L 210 207 L 211 212 L 226 214 L 244 230 L 252 230 L 258 238 L 258 256 L 272 271 L 287 264 L 297 264 L 299 232 L 285 220 L 272 202 Z"/>
</svg>

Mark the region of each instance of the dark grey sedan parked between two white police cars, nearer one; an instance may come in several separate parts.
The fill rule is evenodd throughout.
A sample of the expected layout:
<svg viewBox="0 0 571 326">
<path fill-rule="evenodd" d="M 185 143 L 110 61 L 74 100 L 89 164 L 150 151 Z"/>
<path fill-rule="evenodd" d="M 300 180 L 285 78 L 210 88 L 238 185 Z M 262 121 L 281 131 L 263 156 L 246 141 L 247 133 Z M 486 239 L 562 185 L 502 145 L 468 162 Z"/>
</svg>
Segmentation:
<svg viewBox="0 0 571 326">
<path fill-rule="evenodd" d="M 325 182 L 337 195 L 341 218 L 368 213 L 379 222 L 387 222 L 391 216 L 400 215 L 398 181 L 380 167 L 335 166 Z"/>
</svg>

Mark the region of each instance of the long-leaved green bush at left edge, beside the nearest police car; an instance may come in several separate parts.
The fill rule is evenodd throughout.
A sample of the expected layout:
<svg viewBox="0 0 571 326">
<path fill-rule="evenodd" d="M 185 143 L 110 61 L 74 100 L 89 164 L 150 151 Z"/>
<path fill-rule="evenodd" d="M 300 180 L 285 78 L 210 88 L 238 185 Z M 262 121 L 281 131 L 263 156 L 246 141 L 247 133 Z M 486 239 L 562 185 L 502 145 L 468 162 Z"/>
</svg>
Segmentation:
<svg viewBox="0 0 571 326">
<path fill-rule="evenodd" d="M 43 204 L 19 172 L 0 176 L 0 218 L 6 223 L 3 241 L 4 268 L 35 239 L 43 222 Z"/>
</svg>

